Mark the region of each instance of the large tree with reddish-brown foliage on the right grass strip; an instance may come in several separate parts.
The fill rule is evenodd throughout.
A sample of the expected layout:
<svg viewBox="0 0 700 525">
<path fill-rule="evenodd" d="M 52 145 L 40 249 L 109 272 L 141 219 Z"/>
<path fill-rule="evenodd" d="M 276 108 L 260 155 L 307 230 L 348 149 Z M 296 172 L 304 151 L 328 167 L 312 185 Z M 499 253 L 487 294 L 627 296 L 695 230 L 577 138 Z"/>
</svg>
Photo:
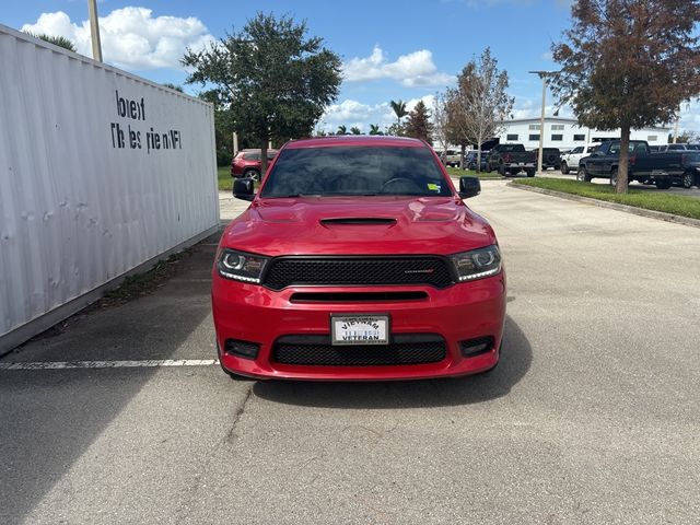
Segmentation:
<svg viewBox="0 0 700 525">
<path fill-rule="evenodd" d="M 700 2 L 579 0 L 571 15 L 552 45 L 561 65 L 553 92 L 585 126 L 620 129 L 617 192 L 625 194 L 630 130 L 672 121 L 700 92 Z"/>
</svg>

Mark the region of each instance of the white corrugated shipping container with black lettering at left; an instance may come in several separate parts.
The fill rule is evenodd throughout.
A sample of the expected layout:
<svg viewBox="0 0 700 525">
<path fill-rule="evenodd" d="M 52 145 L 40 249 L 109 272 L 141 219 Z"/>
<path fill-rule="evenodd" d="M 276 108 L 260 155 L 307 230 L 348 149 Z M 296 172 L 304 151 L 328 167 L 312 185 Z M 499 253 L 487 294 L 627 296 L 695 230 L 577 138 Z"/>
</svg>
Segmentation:
<svg viewBox="0 0 700 525">
<path fill-rule="evenodd" d="M 211 105 L 0 25 L 0 352 L 218 225 Z"/>
</svg>

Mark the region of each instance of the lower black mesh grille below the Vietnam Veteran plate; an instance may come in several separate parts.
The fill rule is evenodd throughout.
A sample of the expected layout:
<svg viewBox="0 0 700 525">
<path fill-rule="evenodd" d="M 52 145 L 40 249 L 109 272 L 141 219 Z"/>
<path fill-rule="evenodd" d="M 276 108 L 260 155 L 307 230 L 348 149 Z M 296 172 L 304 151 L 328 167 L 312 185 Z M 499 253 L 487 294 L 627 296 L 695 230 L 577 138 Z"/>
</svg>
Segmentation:
<svg viewBox="0 0 700 525">
<path fill-rule="evenodd" d="M 445 359 L 445 341 L 430 340 L 392 342 L 389 345 L 332 346 L 328 338 L 282 338 L 275 343 L 272 361 L 281 364 L 311 366 L 382 366 L 436 363 Z M 304 341 L 302 339 L 312 339 Z"/>
</svg>

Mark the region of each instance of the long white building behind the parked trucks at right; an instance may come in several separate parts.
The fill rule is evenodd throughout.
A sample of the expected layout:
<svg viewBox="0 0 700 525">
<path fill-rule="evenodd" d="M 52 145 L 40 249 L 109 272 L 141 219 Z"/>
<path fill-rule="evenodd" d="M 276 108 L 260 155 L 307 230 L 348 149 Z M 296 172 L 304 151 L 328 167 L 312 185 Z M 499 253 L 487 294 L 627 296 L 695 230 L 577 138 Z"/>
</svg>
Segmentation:
<svg viewBox="0 0 700 525">
<path fill-rule="evenodd" d="M 539 117 L 516 118 L 503 124 L 498 139 L 501 143 L 517 142 L 525 144 L 526 150 L 539 148 Z M 633 129 L 630 140 L 645 140 L 650 144 L 666 144 L 670 128 L 653 127 Z M 571 150 L 576 145 L 588 142 L 599 142 L 606 139 L 617 139 L 620 130 L 599 131 L 579 124 L 575 118 L 546 117 L 545 118 L 545 148 L 559 148 Z"/>
</svg>

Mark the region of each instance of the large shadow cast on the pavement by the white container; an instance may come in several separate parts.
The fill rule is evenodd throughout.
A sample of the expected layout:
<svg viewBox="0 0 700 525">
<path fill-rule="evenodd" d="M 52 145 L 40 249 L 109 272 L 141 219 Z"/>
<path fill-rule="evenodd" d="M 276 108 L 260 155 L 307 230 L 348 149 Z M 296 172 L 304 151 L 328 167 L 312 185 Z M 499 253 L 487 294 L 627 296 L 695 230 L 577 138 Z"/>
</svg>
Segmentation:
<svg viewBox="0 0 700 525">
<path fill-rule="evenodd" d="M 202 329 L 211 332 L 211 348 L 201 358 L 213 358 L 213 327 L 202 325 L 211 312 L 208 278 L 219 237 L 213 234 L 192 247 L 178 275 L 156 292 L 79 313 L 62 324 L 67 328 L 28 341 L 1 361 L 171 359 Z M 24 523 L 156 372 L 0 371 L 0 523 Z M 59 523 L 60 516 L 54 517 Z"/>
</svg>

